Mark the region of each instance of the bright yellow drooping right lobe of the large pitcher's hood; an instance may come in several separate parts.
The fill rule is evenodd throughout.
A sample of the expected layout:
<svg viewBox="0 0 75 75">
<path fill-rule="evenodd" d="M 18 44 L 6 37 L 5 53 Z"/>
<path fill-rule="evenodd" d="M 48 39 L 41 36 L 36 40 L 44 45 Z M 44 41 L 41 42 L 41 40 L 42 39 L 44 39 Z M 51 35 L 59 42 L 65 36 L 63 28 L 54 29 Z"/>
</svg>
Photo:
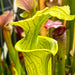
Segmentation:
<svg viewBox="0 0 75 75">
<path fill-rule="evenodd" d="M 63 19 L 63 20 L 73 20 L 74 19 L 74 15 L 70 15 L 70 9 L 69 6 L 54 6 L 51 7 L 49 11 L 50 15 L 53 17 L 57 17 L 59 19 Z"/>
</svg>

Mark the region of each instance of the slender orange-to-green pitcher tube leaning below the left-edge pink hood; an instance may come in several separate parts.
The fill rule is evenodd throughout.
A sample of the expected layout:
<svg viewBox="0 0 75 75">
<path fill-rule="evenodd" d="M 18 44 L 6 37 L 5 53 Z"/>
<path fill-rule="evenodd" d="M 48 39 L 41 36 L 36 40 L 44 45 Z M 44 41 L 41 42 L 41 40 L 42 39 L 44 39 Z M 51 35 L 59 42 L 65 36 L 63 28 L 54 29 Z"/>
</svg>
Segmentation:
<svg viewBox="0 0 75 75">
<path fill-rule="evenodd" d="M 7 44 L 8 50 L 9 50 L 9 56 L 10 56 L 11 60 L 13 61 L 13 63 L 15 64 L 18 75 L 21 75 L 22 73 L 23 73 L 23 75 L 25 75 L 25 72 L 19 61 L 18 52 L 13 48 L 13 45 L 11 42 L 10 29 L 8 27 L 4 27 L 3 35 L 4 35 L 4 40 Z"/>
</svg>

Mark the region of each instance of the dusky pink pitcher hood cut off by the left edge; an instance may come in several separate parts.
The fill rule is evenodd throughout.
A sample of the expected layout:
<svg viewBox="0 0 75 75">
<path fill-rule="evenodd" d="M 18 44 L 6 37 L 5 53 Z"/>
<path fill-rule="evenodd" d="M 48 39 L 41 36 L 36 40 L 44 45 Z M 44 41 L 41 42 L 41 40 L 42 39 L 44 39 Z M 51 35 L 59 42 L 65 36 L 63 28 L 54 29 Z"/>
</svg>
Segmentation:
<svg viewBox="0 0 75 75">
<path fill-rule="evenodd" d="M 4 14 L 0 15 L 0 25 L 4 27 L 13 19 L 13 12 L 12 11 L 5 11 Z"/>
</svg>

